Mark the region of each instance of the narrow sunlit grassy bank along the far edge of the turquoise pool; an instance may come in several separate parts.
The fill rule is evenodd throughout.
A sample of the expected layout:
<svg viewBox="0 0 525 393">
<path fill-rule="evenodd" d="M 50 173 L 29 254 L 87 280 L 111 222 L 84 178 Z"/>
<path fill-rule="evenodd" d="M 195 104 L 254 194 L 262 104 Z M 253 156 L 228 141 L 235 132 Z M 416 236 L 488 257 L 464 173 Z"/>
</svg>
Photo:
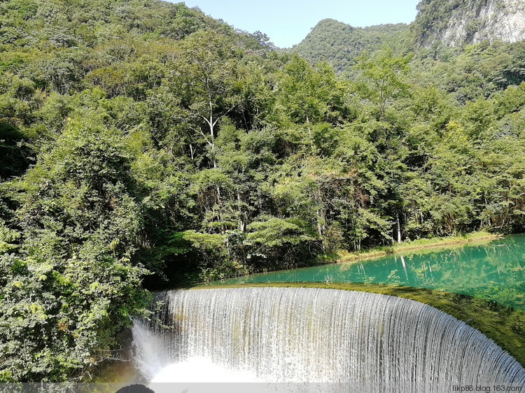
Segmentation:
<svg viewBox="0 0 525 393">
<path fill-rule="evenodd" d="M 451 247 L 454 245 L 464 245 L 467 243 L 491 241 L 500 237 L 501 235 L 498 234 L 489 234 L 489 232 L 478 231 L 461 236 L 421 238 L 414 241 L 403 241 L 402 243 L 367 248 L 354 252 L 339 250 L 333 254 L 326 255 L 322 260 L 326 263 L 362 261 L 363 259 L 384 257 L 385 255 L 395 254 L 398 252 L 423 250 L 426 248 Z"/>
</svg>

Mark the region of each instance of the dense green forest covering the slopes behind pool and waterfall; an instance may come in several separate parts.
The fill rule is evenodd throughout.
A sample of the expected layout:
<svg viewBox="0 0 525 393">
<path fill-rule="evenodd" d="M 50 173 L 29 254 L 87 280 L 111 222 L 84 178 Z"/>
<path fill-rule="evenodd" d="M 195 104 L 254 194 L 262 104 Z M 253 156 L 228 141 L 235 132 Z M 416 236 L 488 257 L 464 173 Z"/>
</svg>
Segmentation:
<svg viewBox="0 0 525 393">
<path fill-rule="evenodd" d="M 525 43 L 399 31 L 338 66 L 183 3 L 2 1 L 0 381 L 91 380 L 155 288 L 524 231 Z"/>
</svg>

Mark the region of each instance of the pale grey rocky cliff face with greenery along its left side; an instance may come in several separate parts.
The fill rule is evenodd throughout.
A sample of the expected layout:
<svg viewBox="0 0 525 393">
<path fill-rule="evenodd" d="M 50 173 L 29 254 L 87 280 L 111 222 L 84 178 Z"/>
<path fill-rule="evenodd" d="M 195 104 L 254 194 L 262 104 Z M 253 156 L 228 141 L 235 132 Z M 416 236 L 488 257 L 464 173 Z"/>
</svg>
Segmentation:
<svg viewBox="0 0 525 393">
<path fill-rule="evenodd" d="M 422 0 L 418 9 L 412 27 L 426 48 L 525 39 L 525 0 Z"/>
</svg>

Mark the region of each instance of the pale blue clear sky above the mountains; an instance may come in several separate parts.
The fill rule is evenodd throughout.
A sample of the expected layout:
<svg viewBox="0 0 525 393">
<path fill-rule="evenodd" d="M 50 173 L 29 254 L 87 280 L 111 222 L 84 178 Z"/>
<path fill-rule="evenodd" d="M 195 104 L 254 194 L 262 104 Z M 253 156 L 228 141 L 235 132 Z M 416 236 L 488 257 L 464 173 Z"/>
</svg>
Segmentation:
<svg viewBox="0 0 525 393">
<path fill-rule="evenodd" d="M 177 0 L 171 0 L 178 3 Z M 183 1 L 183 0 L 182 0 Z M 353 27 L 410 23 L 419 0 L 186 0 L 206 15 L 253 33 L 262 31 L 279 48 L 300 43 L 317 22 L 332 18 Z"/>
</svg>

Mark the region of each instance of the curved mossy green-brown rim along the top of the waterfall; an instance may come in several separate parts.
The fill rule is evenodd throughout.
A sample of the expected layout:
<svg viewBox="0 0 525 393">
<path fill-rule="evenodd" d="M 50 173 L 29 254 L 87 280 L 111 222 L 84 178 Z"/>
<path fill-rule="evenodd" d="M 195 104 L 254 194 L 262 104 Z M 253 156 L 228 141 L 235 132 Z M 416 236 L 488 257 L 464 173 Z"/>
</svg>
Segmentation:
<svg viewBox="0 0 525 393">
<path fill-rule="evenodd" d="M 316 287 L 354 290 L 399 296 L 426 303 L 481 331 L 525 366 L 525 312 L 507 306 L 441 290 L 363 283 L 237 283 L 214 285 L 213 288 L 235 287 Z M 209 288 L 199 285 L 191 289 Z"/>
</svg>

